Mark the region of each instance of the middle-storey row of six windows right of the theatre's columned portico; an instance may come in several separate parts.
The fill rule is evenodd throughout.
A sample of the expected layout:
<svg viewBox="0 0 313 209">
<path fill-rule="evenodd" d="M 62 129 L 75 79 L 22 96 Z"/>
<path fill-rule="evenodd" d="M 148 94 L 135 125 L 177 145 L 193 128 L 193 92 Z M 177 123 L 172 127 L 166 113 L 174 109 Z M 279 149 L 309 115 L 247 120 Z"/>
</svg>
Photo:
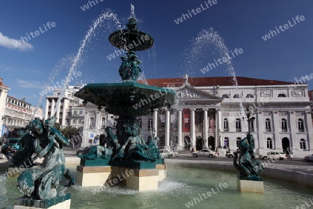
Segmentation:
<svg viewBox="0 0 313 209">
<path fill-rule="evenodd" d="M 250 121 L 249 126 L 250 126 L 250 131 L 254 132 L 255 131 L 254 130 L 255 129 L 254 121 Z M 227 118 L 224 118 L 223 127 L 224 127 L 224 131 L 225 132 L 229 131 Z M 236 127 L 236 132 L 241 132 L 241 120 L 239 118 L 236 118 L 235 127 Z M 282 129 L 282 132 L 287 132 L 288 131 L 288 126 L 287 126 L 287 120 L 286 119 L 284 119 L 284 118 L 282 119 L 280 127 Z M 303 119 L 298 119 L 297 127 L 298 127 L 298 132 L 305 132 Z M 266 118 L 266 120 L 265 120 L 265 131 L 266 132 L 271 132 L 272 131 L 271 119 L 269 119 L 269 118 Z"/>
</svg>

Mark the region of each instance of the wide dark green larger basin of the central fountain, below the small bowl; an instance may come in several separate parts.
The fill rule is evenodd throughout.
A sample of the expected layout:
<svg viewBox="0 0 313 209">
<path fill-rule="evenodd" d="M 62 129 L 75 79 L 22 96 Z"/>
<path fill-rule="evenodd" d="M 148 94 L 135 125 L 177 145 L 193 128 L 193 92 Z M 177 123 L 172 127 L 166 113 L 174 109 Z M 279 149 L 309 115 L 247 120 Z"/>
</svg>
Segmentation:
<svg viewBox="0 0 313 209">
<path fill-rule="evenodd" d="M 150 114 L 152 109 L 170 107 L 176 98 L 172 89 L 137 82 L 88 84 L 74 95 L 106 107 L 110 114 L 131 116 L 143 116 Z"/>
</svg>

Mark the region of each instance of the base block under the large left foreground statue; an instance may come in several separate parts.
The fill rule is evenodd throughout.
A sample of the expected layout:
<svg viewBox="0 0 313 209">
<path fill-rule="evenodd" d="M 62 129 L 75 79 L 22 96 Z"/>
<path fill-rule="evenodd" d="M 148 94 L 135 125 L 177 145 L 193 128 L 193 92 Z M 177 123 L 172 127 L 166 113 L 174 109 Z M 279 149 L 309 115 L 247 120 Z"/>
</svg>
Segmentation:
<svg viewBox="0 0 313 209">
<path fill-rule="evenodd" d="M 14 209 L 35 209 L 35 208 L 47 208 L 47 209 L 70 209 L 71 195 L 57 196 L 53 199 L 47 200 L 33 200 L 30 198 L 19 198 L 16 201 Z"/>
</svg>

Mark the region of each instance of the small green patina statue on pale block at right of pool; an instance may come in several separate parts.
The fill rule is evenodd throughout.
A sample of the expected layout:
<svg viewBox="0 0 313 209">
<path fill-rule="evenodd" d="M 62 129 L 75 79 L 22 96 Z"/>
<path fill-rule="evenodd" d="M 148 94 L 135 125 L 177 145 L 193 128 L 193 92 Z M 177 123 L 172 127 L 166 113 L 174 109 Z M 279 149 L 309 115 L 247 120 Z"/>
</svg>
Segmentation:
<svg viewBox="0 0 313 209">
<path fill-rule="evenodd" d="M 255 148 L 255 139 L 248 132 L 247 137 L 242 139 L 239 144 L 239 152 L 234 153 L 234 167 L 240 171 L 242 180 L 262 180 L 259 173 L 264 167 L 259 160 L 254 158 L 253 149 Z M 237 163 L 239 154 L 239 163 Z"/>
</svg>

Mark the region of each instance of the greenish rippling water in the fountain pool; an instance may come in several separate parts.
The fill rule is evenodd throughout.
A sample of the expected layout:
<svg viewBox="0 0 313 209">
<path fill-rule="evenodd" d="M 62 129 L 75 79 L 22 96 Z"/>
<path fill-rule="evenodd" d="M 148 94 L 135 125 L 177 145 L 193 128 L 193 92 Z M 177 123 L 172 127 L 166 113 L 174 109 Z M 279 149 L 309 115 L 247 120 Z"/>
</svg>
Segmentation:
<svg viewBox="0 0 313 209">
<path fill-rule="evenodd" d="M 75 173 L 76 167 L 70 167 Z M 264 194 L 238 192 L 236 174 L 207 169 L 168 167 L 168 178 L 159 183 L 159 189 L 137 192 L 121 187 L 111 187 L 95 192 L 99 187 L 71 187 L 72 209 L 123 209 L 123 208 L 296 208 L 313 201 L 313 189 L 264 178 Z M 3 172 L 0 172 L 2 175 Z M 226 183 L 227 187 L 217 192 L 216 186 Z M 199 194 L 214 189 L 216 194 L 202 201 Z M 13 208 L 15 199 L 21 194 L 16 187 L 16 178 L 0 182 L 0 206 Z M 190 205 L 193 198 L 197 201 Z M 198 198 L 199 201 L 196 199 Z"/>
</svg>

